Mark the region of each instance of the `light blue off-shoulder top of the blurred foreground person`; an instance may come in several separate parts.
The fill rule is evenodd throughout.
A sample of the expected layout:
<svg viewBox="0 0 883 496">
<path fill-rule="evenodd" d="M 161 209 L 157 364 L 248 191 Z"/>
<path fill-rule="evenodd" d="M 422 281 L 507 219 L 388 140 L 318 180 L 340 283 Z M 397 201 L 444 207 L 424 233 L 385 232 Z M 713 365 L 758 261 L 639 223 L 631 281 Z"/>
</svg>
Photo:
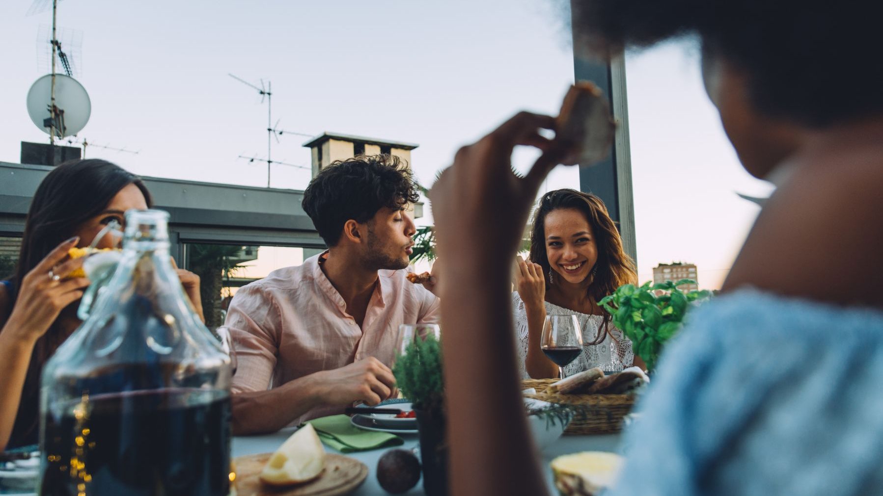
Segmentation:
<svg viewBox="0 0 883 496">
<path fill-rule="evenodd" d="M 690 321 L 611 495 L 883 493 L 883 312 L 743 289 Z"/>
</svg>

